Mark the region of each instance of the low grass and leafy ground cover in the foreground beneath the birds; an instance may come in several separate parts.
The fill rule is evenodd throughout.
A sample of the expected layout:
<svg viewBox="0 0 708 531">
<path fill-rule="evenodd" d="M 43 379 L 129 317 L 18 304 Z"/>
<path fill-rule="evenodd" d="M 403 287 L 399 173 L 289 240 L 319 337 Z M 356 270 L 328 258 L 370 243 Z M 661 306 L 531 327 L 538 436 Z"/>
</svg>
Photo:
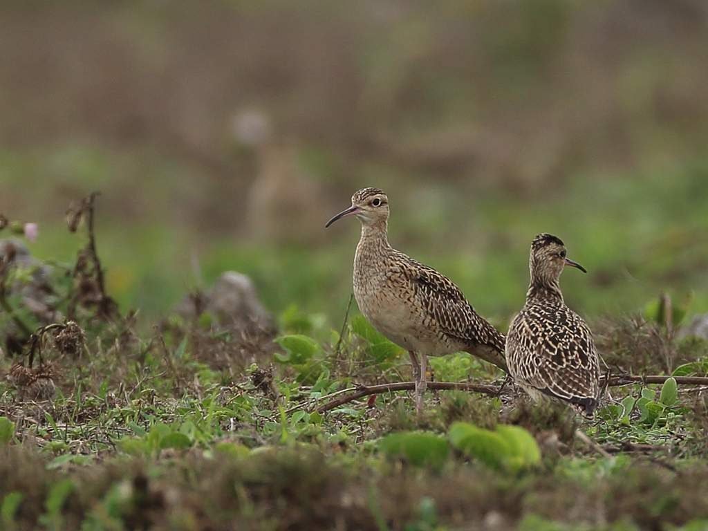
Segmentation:
<svg viewBox="0 0 708 531">
<path fill-rule="evenodd" d="M 274 358 L 209 321 L 171 319 L 164 348 L 125 324 L 91 326 L 79 355 L 49 341 L 49 401 L 0 383 L 4 528 L 624 530 L 700 526 L 708 510 L 708 409 L 687 387 L 613 389 L 595 421 L 464 392 L 429 392 L 421 418 L 406 394 L 319 413 L 355 382 L 409 379 L 405 356 L 356 315 L 337 353 L 336 331 L 289 310 Z M 681 374 L 705 374 L 707 354 L 683 350 L 699 361 Z M 469 355 L 432 365 L 499 376 Z"/>
</svg>

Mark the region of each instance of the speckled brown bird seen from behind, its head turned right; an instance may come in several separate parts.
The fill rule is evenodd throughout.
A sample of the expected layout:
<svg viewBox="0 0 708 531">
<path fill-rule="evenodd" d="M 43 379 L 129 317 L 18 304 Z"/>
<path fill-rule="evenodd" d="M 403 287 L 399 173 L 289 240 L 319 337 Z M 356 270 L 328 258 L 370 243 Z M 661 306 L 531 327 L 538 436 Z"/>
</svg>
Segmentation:
<svg viewBox="0 0 708 531">
<path fill-rule="evenodd" d="M 532 398 L 546 394 L 592 415 L 600 394 L 598 354 L 588 325 L 563 300 L 559 278 L 566 265 L 586 272 L 566 258 L 559 238 L 535 237 L 526 304 L 509 328 L 506 362 Z"/>
</svg>

